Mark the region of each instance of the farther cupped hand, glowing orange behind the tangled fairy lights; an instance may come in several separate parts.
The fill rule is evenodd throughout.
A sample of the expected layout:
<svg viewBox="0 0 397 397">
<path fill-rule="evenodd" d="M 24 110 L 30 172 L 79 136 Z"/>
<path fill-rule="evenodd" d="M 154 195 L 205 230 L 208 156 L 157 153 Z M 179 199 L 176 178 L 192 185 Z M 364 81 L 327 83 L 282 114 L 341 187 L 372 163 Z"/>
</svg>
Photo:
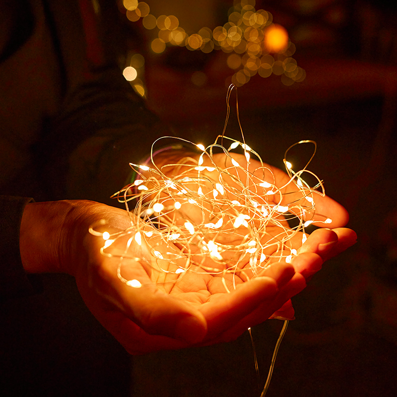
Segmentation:
<svg viewBox="0 0 397 397">
<path fill-rule="evenodd" d="M 255 160 L 247 164 L 243 155 L 184 160 L 161 171 L 166 176 L 160 181 L 155 172 L 145 181 L 150 189 L 141 199 L 144 211 L 160 206 L 150 222 L 189 257 L 182 269 L 197 265 L 195 271 L 241 276 L 244 268 L 246 280 L 271 263 L 290 262 L 309 224 L 337 227 L 347 220 L 339 204 L 299 187 L 298 178 Z M 291 217 L 299 219 L 299 227 L 289 227 Z"/>
</svg>

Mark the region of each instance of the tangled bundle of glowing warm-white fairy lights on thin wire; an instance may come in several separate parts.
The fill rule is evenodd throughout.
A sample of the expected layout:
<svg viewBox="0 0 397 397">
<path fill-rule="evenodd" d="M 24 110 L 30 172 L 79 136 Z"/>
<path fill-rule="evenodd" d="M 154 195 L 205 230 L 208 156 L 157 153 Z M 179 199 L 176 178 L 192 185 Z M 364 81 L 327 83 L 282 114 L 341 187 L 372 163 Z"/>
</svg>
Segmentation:
<svg viewBox="0 0 397 397">
<path fill-rule="evenodd" d="M 272 169 L 244 138 L 239 141 L 222 134 L 207 147 L 175 138 L 185 147 L 191 145 L 190 153 L 196 154 L 157 166 L 153 153 L 161 139 L 152 145 L 151 166 L 149 161 L 131 163 L 134 181 L 114 195 L 125 203 L 130 227 L 113 234 L 91 228 L 91 233 L 105 240 L 102 254 L 121 258 L 118 275 L 123 282 L 141 286 L 139 280 L 121 274 L 122 262 L 129 258 L 146 262 L 158 272 L 174 274 L 170 282 L 178 282 L 187 272 L 220 276 L 225 292 L 229 292 L 227 274 L 232 274 L 233 280 L 240 277 L 248 281 L 266 266 L 289 263 L 297 255 L 296 238 L 303 244 L 306 228 L 314 221 L 314 196 L 325 194 L 322 181 L 307 170 L 316 151 L 314 141 L 300 141 L 287 149 L 283 161 L 288 177 L 277 186 Z M 294 171 L 288 152 L 304 143 L 314 145 L 313 155 L 303 169 Z M 233 152 L 238 148 L 243 154 Z M 314 175 L 315 186 L 305 182 L 307 173 Z M 295 225 L 290 226 L 288 222 L 293 219 Z M 331 219 L 324 215 L 323 222 L 331 223 Z M 119 239 L 127 241 L 125 250 L 112 253 Z M 140 258 L 136 257 L 136 245 L 144 247 L 146 253 Z"/>
</svg>

